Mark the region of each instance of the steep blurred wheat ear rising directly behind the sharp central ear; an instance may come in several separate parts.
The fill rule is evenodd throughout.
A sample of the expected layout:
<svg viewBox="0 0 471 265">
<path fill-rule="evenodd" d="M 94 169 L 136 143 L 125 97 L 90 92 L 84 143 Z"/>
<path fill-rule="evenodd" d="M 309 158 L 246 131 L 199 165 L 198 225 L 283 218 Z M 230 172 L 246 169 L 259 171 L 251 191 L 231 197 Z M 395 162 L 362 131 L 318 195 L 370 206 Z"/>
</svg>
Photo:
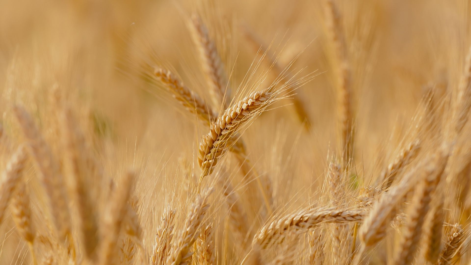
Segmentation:
<svg viewBox="0 0 471 265">
<path fill-rule="evenodd" d="M 228 82 L 216 45 L 214 44 L 214 41 L 211 40 L 208 29 L 198 15 L 193 14 L 190 27 L 192 29 L 195 45 L 198 47 L 200 52 L 201 62 L 207 77 L 213 107 L 219 108 L 222 106 L 223 108 L 226 108 L 227 102 L 225 102 L 226 100 L 224 95 L 229 94 L 226 91 Z"/>
</svg>

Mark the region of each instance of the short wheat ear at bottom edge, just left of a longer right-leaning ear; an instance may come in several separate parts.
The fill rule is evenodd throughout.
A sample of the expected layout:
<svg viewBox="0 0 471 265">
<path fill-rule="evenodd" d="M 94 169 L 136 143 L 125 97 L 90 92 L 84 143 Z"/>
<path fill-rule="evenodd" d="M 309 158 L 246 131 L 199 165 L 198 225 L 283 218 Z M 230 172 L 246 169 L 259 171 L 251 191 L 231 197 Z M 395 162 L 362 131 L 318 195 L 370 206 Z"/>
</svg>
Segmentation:
<svg viewBox="0 0 471 265">
<path fill-rule="evenodd" d="M 154 250 L 151 256 L 151 264 L 153 265 L 164 265 L 165 263 L 173 238 L 174 217 L 175 210 L 166 207 L 155 236 Z"/>
</svg>

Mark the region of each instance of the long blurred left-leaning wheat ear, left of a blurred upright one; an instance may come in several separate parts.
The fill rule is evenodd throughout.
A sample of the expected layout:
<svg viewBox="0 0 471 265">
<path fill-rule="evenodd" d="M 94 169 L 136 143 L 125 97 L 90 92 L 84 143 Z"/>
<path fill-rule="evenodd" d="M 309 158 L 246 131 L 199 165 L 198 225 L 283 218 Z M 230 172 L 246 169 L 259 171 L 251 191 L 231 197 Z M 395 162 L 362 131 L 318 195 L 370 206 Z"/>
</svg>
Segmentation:
<svg viewBox="0 0 471 265">
<path fill-rule="evenodd" d="M 28 149 L 49 198 L 49 210 L 55 225 L 58 239 L 71 242 L 70 214 L 67 207 L 64 180 L 52 152 L 32 121 L 32 117 L 21 107 L 14 108 L 16 119 L 21 126 Z M 68 246 L 71 248 L 71 246 Z M 73 249 L 69 249 L 73 250 Z"/>
</svg>

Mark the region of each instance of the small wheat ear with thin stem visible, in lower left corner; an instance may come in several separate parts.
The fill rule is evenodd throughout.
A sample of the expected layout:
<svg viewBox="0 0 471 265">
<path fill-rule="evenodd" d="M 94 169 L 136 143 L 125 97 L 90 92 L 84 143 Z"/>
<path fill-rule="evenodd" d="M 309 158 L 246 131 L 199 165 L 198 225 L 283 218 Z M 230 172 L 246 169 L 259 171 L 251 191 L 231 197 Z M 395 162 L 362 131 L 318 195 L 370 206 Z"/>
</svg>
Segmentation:
<svg viewBox="0 0 471 265">
<path fill-rule="evenodd" d="M 20 232 L 21 237 L 28 243 L 33 264 L 36 265 L 36 256 L 33 248 L 35 232 L 32 226 L 30 198 L 23 181 L 19 181 L 15 193 L 11 205 L 13 221 L 15 221 L 16 229 Z"/>
</svg>

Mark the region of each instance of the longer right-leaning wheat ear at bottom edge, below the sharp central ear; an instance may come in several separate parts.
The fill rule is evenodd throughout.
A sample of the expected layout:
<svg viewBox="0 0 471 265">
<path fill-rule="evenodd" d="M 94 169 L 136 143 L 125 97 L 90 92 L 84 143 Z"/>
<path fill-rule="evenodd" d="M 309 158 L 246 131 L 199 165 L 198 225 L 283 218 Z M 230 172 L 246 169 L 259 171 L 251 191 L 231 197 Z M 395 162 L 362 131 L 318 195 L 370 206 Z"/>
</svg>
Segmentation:
<svg viewBox="0 0 471 265">
<path fill-rule="evenodd" d="M 207 199 L 212 189 L 202 190 L 201 194 L 196 198 L 190 207 L 190 212 L 185 219 L 182 230 L 174 238 L 170 255 L 167 258 L 166 265 L 186 265 L 193 255 L 190 251 L 193 243 L 197 238 L 197 232 L 203 222 L 204 215 L 209 208 Z"/>
</svg>

